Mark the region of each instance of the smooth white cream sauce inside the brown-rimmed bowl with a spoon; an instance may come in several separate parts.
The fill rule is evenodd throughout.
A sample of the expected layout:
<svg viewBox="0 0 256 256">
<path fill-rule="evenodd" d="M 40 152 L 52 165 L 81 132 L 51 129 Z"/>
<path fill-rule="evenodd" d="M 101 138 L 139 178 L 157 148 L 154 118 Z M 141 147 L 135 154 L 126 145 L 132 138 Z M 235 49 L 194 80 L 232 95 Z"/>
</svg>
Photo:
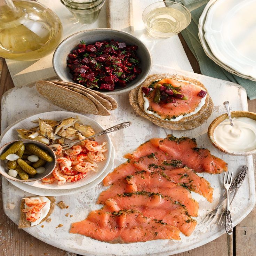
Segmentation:
<svg viewBox="0 0 256 256">
<path fill-rule="evenodd" d="M 230 152 L 246 152 L 256 149 L 256 121 L 248 117 L 222 121 L 214 130 L 215 141 Z"/>
</svg>

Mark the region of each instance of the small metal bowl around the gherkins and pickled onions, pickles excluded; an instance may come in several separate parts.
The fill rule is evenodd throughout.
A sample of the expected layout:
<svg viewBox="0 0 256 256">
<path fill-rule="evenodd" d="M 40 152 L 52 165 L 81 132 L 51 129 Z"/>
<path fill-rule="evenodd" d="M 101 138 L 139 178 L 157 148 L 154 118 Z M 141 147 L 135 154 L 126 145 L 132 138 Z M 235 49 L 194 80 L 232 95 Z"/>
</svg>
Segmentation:
<svg viewBox="0 0 256 256">
<path fill-rule="evenodd" d="M 31 182 L 31 181 L 39 181 L 40 179 L 42 178 L 45 178 L 46 176 L 48 176 L 55 168 L 56 166 L 56 162 L 57 162 L 57 159 L 56 159 L 56 156 L 55 156 L 55 153 L 53 152 L 53 150 L 39 142 L 39 141 L 33 141 L 32 139 L 19 139 L 17 141 L 22 141 L 24 145 L 28 144 L 28 143 L 33 143 L 37 146 L 39 146 L 42 150 L 45 150 L 51 157 L 54 158 L 54 161 L 53 162 L 46 162 L 45 163 L 45 172 L 42 173 L 42 174 L 36 174 L 34 178 L 28 178 L 27 180 L 22 180 L 19 175 L 17 175 L 16 177 L 12 177 L 8 174 L 8 168 L 6 167 L 6 163 L 5 163 L 5 160 L 0 160 L 0 174 L 2 174 L 5 178 L 7 179 L 11 179 L 12 181 L 18 181 L 18 182 Z M 3 145 L 1 148 L 0 148 L 0 155 L 2 153 L 4 153 L 11 144 L 13 144 L 14 142 L 16 141 L 11 141 L 9 143 L 6 143 L 5 145 Z"/>
</svg>

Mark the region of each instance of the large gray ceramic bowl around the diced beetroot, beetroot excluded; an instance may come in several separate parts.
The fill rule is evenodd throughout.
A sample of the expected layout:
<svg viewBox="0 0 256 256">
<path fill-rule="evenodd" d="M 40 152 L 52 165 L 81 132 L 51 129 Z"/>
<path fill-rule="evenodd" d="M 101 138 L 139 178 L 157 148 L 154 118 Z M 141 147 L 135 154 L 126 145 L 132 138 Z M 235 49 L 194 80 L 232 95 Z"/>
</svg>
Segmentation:
<svg viewBox="0 0 256 256">
<path fill-rule="evenodd" d="M 142 83 L 147 76 L 152 67 L 152 58 L 149 50 L 144 45 L 144 43 L 139 40 L 138 38 L 134 37 L 133 35 L 113 30 L 113 29 L 91 29 L 91 30 L 84 30 L 73 35 L 70 35 L 68 38 L 63 40 L 53 55 L 53 68 L 55 73 L 58 77 L 63 81 L 70 81 L 72 80 L 72 75 L 69 72 L 69 68 L 67 67 L 67 55 L 77 47 L 81 40 L 84 40 L 86 44 L 94 43 L 96 41 L 104 41 L 104 40 L 111 40 L 114 39 L 119 42 L 125 42 L 126 45 L 137 45 L 138 50 L 136 51 L 137 56 L 141 60 L 139 67 L 142 69 L 142 73 L 138 75 L 138 77 L 129 82 L 126 87 L 118 88 L 113 91 L 102 91 L 105 94 L 120 94 L 125 91 L 129 91 L 140 83 Z"/>
</svg>

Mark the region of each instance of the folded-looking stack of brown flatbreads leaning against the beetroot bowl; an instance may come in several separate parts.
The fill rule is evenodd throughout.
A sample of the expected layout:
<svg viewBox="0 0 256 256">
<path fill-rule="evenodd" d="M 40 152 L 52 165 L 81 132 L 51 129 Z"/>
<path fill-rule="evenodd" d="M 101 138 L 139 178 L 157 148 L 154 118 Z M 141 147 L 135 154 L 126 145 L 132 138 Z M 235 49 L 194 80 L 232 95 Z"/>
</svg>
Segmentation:
<svg viewBox="0 0 256 256">
<path fill-rule="evenodd" d="M 53 104 L 81 114 L 110 115 L 118 106 L 114 98 L 82 85 L 63 81 L 38 81 L 38 92 Z"/>
</svg>

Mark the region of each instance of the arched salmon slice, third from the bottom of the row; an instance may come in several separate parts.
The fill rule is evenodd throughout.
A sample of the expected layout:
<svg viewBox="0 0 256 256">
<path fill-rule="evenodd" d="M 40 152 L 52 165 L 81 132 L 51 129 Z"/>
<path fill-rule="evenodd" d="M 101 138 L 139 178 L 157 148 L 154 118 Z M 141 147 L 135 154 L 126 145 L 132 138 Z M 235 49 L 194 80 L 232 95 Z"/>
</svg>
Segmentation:
<svg viewBox="0 0 256 256">
<path fill-rule="evenodd" d="M 134 175 L 127 176 L 126 179 L 119 179 L 99 195 L 97 203 L 103 204 L 107 199 L 117 194 L 137 191 L 167 195 L 173 201 L 178 201 L 184 205 L 189 215 L 194 217 L 198 215 L 198 202 L 191 197 L 190 191 L 183 185 L 170 182 L 166 175 L 161 175 L 159 172 L 138 171 Z"/>
</svg>

